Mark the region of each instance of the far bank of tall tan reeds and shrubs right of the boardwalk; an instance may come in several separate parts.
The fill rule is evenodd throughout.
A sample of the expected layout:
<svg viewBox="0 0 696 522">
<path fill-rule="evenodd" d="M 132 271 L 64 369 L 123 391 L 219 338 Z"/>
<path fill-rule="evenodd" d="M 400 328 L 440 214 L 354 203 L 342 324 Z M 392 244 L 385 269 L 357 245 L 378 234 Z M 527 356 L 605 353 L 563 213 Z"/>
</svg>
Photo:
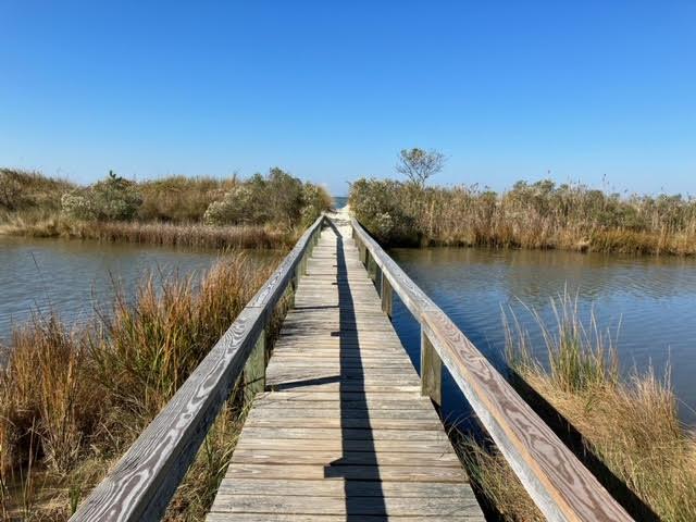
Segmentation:
<svg viewBox="0 0 696 522">
<path fill-rule="evenodd" d="M 550 181 L 497 194 L 363 178 L 351 185 L 350 207 L 390 246 L 696 253 L 696 200 L 681 196 L 621 196 Z"/>
</svg>

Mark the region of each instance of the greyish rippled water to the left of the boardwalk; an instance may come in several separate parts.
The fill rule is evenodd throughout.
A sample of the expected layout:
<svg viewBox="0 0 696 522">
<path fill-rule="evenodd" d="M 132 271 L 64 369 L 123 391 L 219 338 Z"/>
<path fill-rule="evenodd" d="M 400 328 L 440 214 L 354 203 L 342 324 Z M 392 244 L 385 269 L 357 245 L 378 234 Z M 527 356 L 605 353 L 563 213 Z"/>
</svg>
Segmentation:
<svg viewBox="0 0 696 522">
<path fill-rule="evenodd" d="M 52 309 L 66 324 L 79 323 L 112 302 L 114 282 L 133 297 L 149 273 L 202 273 L 216 259 L 164 247 L 0 237 L 0 341 L 33 312 Z"/>
</svg>

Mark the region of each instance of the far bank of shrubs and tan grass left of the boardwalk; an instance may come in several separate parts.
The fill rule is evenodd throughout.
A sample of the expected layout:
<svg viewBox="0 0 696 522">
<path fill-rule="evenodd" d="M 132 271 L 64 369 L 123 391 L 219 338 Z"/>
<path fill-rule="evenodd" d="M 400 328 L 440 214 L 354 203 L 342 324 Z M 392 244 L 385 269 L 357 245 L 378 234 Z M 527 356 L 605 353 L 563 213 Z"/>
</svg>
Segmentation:
<svg viewBox="0 0 696 522">
<path fill-rule="evenodd" d="M 0 169 L 0 234 L 221 248 L 283 248 L 331 208 L 320 186 L 281 169 L 246 179 L 113 173 L 78 186 Z"/>
</svg>

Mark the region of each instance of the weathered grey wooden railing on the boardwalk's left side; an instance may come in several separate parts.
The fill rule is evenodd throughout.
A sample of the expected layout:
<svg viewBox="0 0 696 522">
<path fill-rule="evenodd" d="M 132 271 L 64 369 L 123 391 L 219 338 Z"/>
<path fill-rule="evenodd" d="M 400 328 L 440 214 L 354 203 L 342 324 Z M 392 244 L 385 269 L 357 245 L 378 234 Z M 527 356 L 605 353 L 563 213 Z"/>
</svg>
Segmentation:
<svg viewBox="0 0 696 522">
<path fill-rule="evenodd" d="M 239 313 L 115 468 L 71 520 L 159 520 L 208 431 L 240 377 L 246 390 L 264 387 L 264 337 L 273 310 L 307 270 L 324 222 L 320 216 Z"/>
</svg>

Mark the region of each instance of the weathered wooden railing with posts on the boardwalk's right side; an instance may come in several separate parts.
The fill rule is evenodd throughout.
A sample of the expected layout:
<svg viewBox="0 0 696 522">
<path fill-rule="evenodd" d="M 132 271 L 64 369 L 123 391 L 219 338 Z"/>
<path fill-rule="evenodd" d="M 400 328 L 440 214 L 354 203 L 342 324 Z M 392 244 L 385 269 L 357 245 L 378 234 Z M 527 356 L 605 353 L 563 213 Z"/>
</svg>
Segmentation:
<svg viewBox="0 0 696 522">
<path fill-rule="evenodd" d="M 464 334 L 353 219 L 360 260 L 391 314 L 396 291 L 421 325 L 422 393 L 442 402 L 443 363 L 525 489 L 551 521 L 630 521 L 626 511 Z"/>
</svg>

